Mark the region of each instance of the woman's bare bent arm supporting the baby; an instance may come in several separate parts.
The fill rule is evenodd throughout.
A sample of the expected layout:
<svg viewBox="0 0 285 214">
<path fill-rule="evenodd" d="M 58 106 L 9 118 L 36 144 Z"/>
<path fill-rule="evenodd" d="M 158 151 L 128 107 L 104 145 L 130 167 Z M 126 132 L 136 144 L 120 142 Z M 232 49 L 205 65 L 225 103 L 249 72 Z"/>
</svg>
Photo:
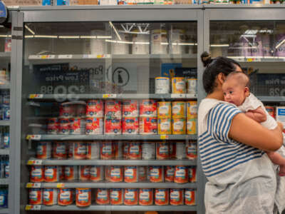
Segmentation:
<svg viewBox="0 0 285 214">
<path fill-rule="evenodd" d="M 264 151 L 276 151 L 283 143 L 282 130 L 279 126 L 269 130 L 244 113 L 238 113 L 232 119 L 229 138 Z"/>
</svg>

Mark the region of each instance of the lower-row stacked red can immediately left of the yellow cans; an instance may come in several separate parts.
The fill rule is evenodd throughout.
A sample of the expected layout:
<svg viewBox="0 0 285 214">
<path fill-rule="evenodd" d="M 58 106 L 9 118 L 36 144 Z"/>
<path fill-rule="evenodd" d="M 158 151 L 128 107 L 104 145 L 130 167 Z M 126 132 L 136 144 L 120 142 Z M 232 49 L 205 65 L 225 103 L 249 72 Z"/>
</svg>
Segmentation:
<svg viewBox="0 0 285 214">
<path fill-rule="evenodd" d="M 140 118 L 140 134 L 141 135 L 157 134 L 157 118 L 156 117 Z"/>
</svg>

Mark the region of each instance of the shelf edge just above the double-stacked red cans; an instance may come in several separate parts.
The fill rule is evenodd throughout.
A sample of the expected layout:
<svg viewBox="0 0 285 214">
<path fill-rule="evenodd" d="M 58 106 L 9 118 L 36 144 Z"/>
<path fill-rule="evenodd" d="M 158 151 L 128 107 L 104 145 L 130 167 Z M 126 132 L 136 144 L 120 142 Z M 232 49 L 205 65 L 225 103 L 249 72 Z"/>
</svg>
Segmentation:
<svg viewBox="0 0 285 214">
<path fill-rule="evenodd" d="M 88 100 L 88 99 L 165 99 L 165 100 L 177 100 L 177 99 L 197 99 L 195 94 L 175 94 L 175 93 L 126 93 L 126 94 L 114 94 L 114 93 L 86 93 L 86 94 L 42 94 L 32 93 L 28 95 L 28 99 L 36 101 L 56 101 L 56 100 Z"/>
</svg>

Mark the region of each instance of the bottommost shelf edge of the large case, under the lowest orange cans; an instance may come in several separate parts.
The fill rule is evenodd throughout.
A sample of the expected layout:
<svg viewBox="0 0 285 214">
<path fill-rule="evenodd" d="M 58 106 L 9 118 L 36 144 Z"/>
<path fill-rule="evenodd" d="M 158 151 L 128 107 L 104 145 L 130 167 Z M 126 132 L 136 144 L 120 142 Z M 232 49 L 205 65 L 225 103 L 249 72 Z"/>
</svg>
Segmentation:
<svg viewBox="0 0 285 214">
<path fill-rule="evenodd" d="M 26 205 L 26 210 L 86 210 L 86 211 L 196 211 L 197 206 L 192 205 L 165 205 L 165 206 L 126 206 L 126 205 L 90 205 L 86 208 L 79 208 L 76 205 L 68 205 L 68 206 L 45 206 L 45 205 Z"/>
</svg>

